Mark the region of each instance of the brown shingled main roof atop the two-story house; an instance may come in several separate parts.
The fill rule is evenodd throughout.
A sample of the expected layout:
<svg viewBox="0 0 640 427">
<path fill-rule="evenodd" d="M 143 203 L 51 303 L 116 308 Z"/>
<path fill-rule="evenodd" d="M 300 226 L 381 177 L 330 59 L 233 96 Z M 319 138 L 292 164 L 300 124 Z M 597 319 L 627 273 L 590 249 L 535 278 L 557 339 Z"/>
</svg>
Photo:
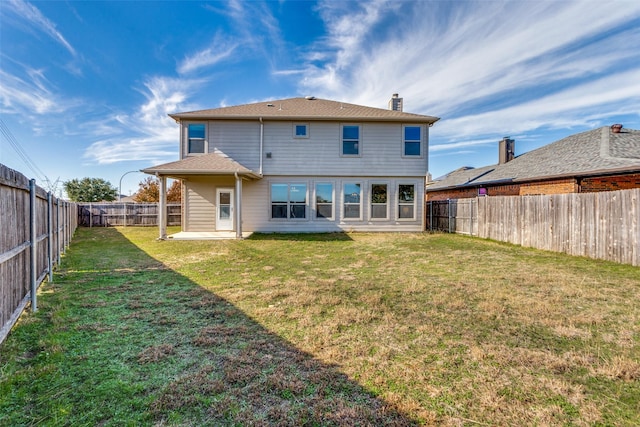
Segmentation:
<svg viewBox="0 0 640 427">
<path fill-rule="evenodd" d="M 383 108 L 365 107 L 346 102 L 329 101 L 315 97 L 289 98 L 275 101 L 263 101 L 232 107 L 213 108 L 170 114 L 180 120 L 353 120 L 353 121 L 392 121 L 433 124 L 438 117 Z"/>
</svg>

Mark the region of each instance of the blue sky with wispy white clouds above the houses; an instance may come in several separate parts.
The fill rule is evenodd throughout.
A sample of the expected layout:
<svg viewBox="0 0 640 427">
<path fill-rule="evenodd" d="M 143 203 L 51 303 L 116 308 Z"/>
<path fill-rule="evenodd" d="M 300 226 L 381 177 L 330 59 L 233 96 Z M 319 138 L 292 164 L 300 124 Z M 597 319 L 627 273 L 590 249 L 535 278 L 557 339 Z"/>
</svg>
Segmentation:
<svg viewBox="0 0 640 427">
<path fill-rule="evenodd" d="M 124 173 L 178 158 L 169 113 L 393 93 L 441 118 L 434 177 L 496 163 L 503 136 L 640 129 L 640 2 L 0 1 L 0 163 L 42 186 L 135 192 Z"/>
</svg>

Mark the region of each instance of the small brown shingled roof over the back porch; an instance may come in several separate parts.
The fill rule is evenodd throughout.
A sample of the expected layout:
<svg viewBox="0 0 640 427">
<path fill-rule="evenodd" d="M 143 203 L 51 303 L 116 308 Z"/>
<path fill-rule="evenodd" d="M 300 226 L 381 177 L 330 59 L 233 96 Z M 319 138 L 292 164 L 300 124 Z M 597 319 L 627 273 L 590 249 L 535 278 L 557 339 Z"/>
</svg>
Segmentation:
<svg viewBox="0 0 640 427">
<path fill-rule="evenodd" d="M 257 172 L 244 167 L 217 149 L 213 153 L 187 157 L 175 162 L 153 166 L 143 169 L 142 172 L 169 176 L 229 175 L 237 173 L 238 175 L 246 175 L 252 178 L 260 177 Z"/>
</svg>

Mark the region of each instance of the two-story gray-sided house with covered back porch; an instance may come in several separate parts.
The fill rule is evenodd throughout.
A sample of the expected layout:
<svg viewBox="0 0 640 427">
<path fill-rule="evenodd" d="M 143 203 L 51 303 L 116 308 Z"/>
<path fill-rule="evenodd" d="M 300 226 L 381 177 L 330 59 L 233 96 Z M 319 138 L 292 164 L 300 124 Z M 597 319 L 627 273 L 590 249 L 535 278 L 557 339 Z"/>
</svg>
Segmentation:
<svg viewBox="0 0 640 427">
<path fill-rule="evenodd" d="M 180 160 L 143 172 L 161 204 L 166 179 L 182 180 L 186 233 L 422 231 L 438 118 L 397 94 L 389 107 L 306 97 L 171 114 Z"/>
</svg>

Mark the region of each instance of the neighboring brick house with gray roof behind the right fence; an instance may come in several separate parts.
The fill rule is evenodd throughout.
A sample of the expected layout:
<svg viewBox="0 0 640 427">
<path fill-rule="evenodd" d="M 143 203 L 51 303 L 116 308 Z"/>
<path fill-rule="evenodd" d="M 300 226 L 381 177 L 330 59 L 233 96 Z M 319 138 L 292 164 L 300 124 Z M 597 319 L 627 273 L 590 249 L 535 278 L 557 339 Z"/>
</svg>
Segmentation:
<svg viewBox="0 0 640 427">
<path fill-rule="evenodd" d="M 500 141 L 499 163 L 463 167 L 427 184 L 427 200 L 587 193 L 640 188 L 640 131 L 621 125 L 571 135 L 514 157 Z"/>
</svg>

